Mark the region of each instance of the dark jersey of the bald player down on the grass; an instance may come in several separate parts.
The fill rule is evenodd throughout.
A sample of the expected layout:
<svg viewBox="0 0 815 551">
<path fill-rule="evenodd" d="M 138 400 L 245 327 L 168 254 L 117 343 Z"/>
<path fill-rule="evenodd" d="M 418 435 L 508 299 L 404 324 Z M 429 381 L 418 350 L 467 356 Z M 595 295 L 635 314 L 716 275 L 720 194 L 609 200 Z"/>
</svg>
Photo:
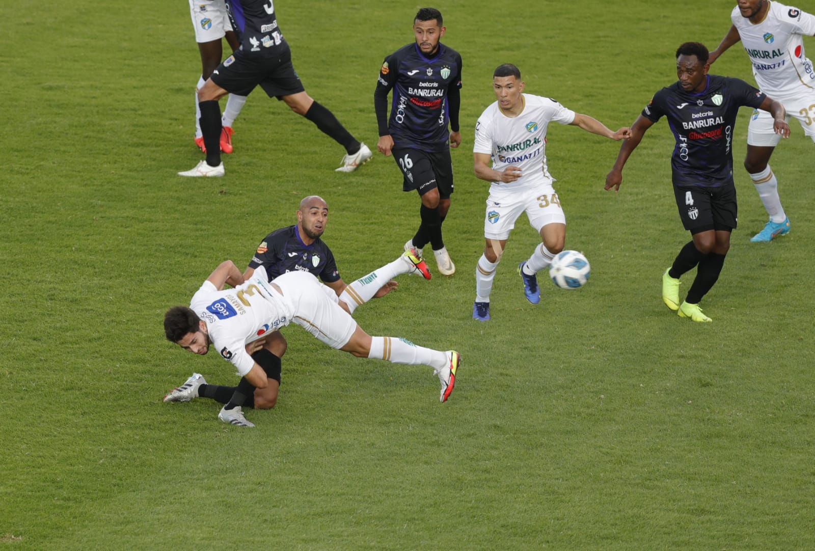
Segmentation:
<svg viewBox="0 0 815 551">
<path fill-rule="evenodd" d="M 264 237 L 255 252 L 249 267 L 266 268 L 269 280 L 287 271 L 308 271 L 319 277 L 324 283 L 333 283 L 340 279 L 334 255 L 323 240 L 314 240 L 306 245 L 297 233 L 297 225 L 281 227 Z"/>
</svg>

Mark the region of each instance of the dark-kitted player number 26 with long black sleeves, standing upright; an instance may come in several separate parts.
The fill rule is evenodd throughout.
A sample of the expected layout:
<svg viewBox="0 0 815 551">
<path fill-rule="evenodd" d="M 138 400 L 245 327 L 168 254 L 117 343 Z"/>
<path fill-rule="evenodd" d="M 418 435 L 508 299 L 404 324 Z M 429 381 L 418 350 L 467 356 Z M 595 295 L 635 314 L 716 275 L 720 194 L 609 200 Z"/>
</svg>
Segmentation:
<svg viewBox="0 0 815 551">
<path fill-rule="evenodd" d="M 399 48 L 382 63 L 373 93 L 377 149 L 393 154 L 403 174 L 403 191 L 421 197 L 421 224 L 405 250 L 433 248 L 438 271 L 452 276 L 456 266 L 444 246 L 442 224 L 453 192 L 450 148 L 461 143 L 459 106 L 461 56 L 439 40 L 447 29 L 442 14 L 423 7 L 413 19 L 416 42 Z M 394 90 L 388 117 L 388 95 Z M 450 131 L 447 131 L 449 122 Z"/>
</svg>

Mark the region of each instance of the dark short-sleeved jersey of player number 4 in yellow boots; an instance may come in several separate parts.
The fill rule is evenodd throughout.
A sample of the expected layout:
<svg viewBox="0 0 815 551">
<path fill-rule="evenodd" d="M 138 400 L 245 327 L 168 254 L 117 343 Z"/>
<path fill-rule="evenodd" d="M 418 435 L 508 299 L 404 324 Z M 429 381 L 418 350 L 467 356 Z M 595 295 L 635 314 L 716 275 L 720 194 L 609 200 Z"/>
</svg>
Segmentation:
<svg viewBox="0 0 815 551">
<path fill-rule="evenodd" d="M 738 108 L 758 108 L 767 97 L 738 78 L 707 75 L 701 92 L 686 92 L 679 82 L 654 94 L 642 116 L 667 117 L 676 139 L 671 157 L 676 187 L 719 187 L 733 181 L 733 129 Z"/>
</svg>

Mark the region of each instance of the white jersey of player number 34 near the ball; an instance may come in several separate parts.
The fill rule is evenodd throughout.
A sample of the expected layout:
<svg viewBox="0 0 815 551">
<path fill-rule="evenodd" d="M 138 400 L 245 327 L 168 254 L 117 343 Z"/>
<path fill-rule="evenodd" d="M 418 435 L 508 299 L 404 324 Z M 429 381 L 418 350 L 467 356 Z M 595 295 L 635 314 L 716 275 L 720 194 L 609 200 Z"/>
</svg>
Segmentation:
<svg viewBox="0 0 815 551">
<path fill-rule="evenodd" d="M 491 104 L 475 124 L 473 152 L 492 156 L 493 170 L 518 166 L 522 176 L 510 183 L 493 182 L 490 193 L 515 192 L 551 184 L 546 166 L 546 128 L 549 121 L 562 125 L 575 120 L 575 112 L 550 98 L 523 94 L 524 107 L 518 117 L 507 117 L 498 102 Z"/>
</svg>

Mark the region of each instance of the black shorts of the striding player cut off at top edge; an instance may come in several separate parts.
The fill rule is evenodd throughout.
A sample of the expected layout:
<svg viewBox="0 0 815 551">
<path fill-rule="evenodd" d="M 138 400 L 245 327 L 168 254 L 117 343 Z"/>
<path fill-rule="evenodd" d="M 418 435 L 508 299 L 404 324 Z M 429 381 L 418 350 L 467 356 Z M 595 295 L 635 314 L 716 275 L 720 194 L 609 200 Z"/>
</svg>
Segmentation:
<svg viewBox="0 0 815 551">
<path fill-rule="evenodd" d="M 240 53 L 230 55 L 218 65 L 210 78 L 227 92 L 236 95 L 249 95 L 258 85 L 270 98 L 277 99 L 306 90 L 294 71 L 288 48 L 275 57 L 248 57 Z"/>
</svg>

